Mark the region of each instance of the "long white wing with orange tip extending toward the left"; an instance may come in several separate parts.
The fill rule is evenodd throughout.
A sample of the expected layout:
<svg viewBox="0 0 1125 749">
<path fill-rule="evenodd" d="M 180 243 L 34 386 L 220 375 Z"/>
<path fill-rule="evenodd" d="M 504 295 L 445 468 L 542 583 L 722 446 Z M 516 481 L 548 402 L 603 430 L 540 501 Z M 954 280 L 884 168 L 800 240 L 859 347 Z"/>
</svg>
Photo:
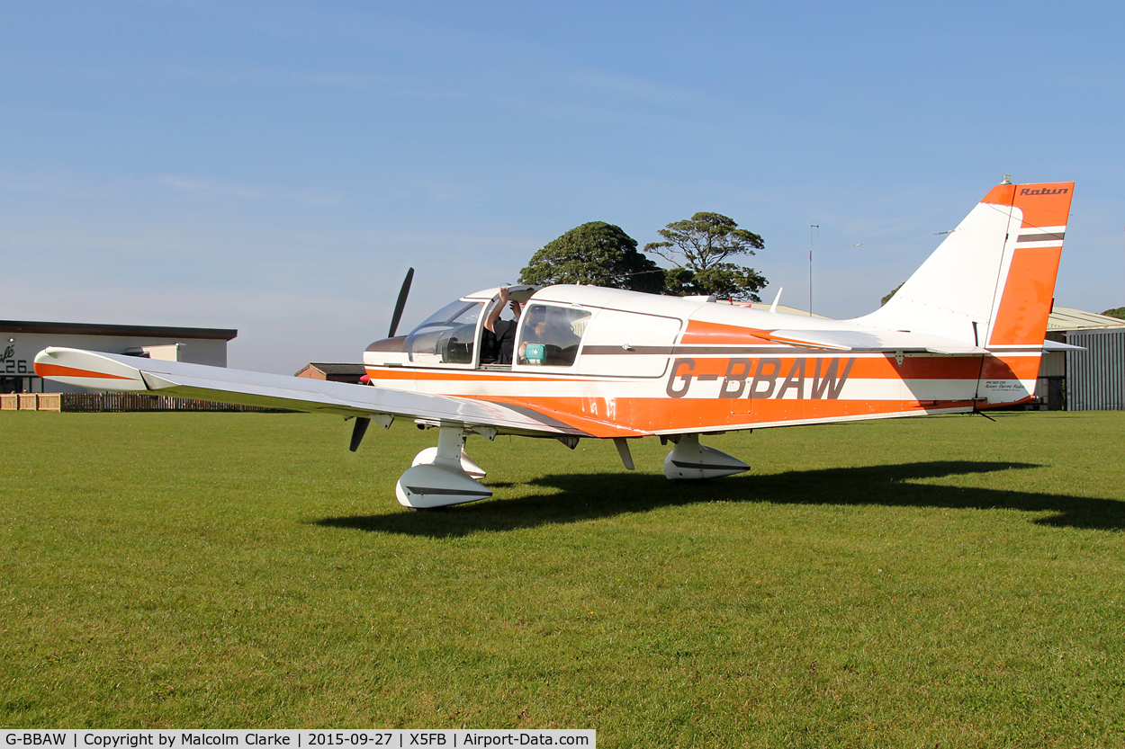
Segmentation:
<svg viewBox="0 0 1125 749">
<path fill-rule="evenodd" d="M 267 374 L 224 367 L 142 359 L 51 346 L 35 357 L 39 377 L 96 390 L 144 392 L 217 403 L 370 417 L 376 414 L 489 426 L 513 434 L 586 432 L 549 416 L 503 404 L 349 382 Z"/>
</svg>

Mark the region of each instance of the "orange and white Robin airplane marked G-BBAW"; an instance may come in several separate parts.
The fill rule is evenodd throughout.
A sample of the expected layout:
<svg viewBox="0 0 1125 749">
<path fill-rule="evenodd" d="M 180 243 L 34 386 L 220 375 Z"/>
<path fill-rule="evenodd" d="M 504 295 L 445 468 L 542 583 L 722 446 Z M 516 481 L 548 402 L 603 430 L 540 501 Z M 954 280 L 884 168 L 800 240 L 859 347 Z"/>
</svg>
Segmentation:
<svg viewBox="0 0 1125 749">
<path fill-rule="evenodd" d="M 492 496 L 465 453 L 469 435 L 673 443 L 669 479 L 749 466 L 700 443 L 732 430 L 952 414 L 1035 391 L 1073 182 L 993 188 L 882 308 L 832 321 L 773 308 L 588 286 L 512 287 L 522 303 L 514 361 L 483 363 L 501 289 L 468 295 L 363 355 L 370 385 L 48 348 L 40 377 L 102 390 L 276 406 L 439 432 L 398 479 L 398 500 L 430 508 Z M 486 355 L 487 358 L 487 355 Z"/>
</svg>

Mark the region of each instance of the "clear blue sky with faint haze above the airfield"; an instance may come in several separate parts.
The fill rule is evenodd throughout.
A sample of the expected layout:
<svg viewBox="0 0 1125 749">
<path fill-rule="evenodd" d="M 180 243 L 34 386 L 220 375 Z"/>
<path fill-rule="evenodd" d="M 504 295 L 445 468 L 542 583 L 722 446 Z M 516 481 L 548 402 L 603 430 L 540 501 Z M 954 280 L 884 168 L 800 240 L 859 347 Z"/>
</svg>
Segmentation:
<svg viewBox="0 0 1125 749">
<path fill-rule="evenodd" d="M 1077 181 L 1058 304 L 1125 305 L 1117 3 L 38 2 L 0 10 L 0 318 L 359 361 L 585 222 L 695 211 L 861 315 L 1000 177 Z"/>
</svg>

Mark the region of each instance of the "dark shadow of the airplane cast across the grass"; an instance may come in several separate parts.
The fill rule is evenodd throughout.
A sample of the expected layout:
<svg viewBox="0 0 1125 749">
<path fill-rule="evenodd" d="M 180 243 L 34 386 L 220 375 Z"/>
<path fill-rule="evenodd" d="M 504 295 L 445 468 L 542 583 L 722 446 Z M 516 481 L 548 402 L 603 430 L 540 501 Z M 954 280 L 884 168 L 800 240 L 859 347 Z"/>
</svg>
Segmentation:
<svg viewBox="0 0 1125 749">
<path fill-rule="evenodd" d="M 706 502 L 768 502 L 783 505 L 853 505 L 946 507 L 950 509 L 1020 509 L 1052 513 L 1034 522 L 1059 527 L 1105 531 L 1125 529 L 1125 502 L 1062 494 L 1038 494 L 975 487 L 920 484 L 965 473 L 1042 468 L 1034 463 L 933 461 L 864 468 L 744 475 L 709 484 L 675 484 L 659 475 L 550 475 L 528 482 L 549 487 L 498 502 L 450 507 L 442 512 L 394 512 L 381 515 L 326 517 L 316 524 L 384 533 L 456 538 L 480 531 L 511 531 L 575 523 L 657 507 Z M 490 482 L 493 488 L 512 484 Z"/>
</svg>

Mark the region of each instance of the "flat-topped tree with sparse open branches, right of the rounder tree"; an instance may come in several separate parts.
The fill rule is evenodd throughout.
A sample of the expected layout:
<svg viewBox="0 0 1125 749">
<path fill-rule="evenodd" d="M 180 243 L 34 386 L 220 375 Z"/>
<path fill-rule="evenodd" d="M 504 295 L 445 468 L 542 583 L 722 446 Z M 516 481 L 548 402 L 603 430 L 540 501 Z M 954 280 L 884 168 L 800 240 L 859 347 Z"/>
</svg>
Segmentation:
<svg viewBox="0 0 1125 749">
<path fill-rule="evenodd" d="M 665 272 L 668 294 L 713 294 L 739 301 L 762 301 L 757 291 L 768 283 L 765 277 L 753 268 L 727 261 L 762 250 L 765 244 L 757 234 L 738 228 L 722 214 L 708 213 L 668 224 L 657 234 L 664 242 L 646 244 L 645 252 L 676 265 Z"/>
</svg>

